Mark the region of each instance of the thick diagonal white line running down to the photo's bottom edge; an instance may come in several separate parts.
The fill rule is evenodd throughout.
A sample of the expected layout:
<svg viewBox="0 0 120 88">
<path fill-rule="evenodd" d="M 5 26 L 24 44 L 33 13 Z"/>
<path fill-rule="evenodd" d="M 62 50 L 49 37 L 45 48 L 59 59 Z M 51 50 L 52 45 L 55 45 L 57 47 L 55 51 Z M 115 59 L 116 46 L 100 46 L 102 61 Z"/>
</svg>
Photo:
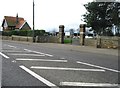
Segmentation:
<svg viewBox="0 0 120 88">
<path fill-rule="evenodd" d="M 33 77 L 35 77 L 38 80 L 40 80 L 41 82 L 43 82 L 44 84 L 46 84 L 47 86 L 58 88 L 55 84 L 51 83 L 50 81 L 46 80 L 45 78 L 43 78 L 40 75 L 36 74 L 35 72 L 31 71 L 27 67 L 25 67 L 23 65 L 21 65 L 19 67 L 22 68 L 23 70 L 25 70 L 26 72 L 28 72 L 29 74 L 31 74 Z"/>
</svg>

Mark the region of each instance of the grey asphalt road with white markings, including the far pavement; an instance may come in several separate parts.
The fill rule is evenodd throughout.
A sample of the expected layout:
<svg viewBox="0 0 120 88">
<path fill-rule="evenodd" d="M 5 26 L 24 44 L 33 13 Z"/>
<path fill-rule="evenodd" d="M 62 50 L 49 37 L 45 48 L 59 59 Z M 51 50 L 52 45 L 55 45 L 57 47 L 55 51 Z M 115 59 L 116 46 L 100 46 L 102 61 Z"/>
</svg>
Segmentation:
<svg viewBox="0 0 120 88">
<path fill-rule="evenodd" d="M 112 49 L 4 40 L 2 87 L 118 88 L 116 53 Z"/>
</svg>

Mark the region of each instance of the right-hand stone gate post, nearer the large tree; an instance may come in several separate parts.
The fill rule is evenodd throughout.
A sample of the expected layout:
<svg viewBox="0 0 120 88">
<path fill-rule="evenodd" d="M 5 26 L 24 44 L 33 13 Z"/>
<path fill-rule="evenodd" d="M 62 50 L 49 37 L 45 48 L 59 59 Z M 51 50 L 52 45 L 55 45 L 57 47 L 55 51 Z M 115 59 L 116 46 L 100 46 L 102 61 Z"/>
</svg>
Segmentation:
<svg viewBox="0 0 120 88">
<path fill-rule="evenodd" d="M 80 45 L 85 44 L 85 24 L 80 24 Z"/>
</svg>

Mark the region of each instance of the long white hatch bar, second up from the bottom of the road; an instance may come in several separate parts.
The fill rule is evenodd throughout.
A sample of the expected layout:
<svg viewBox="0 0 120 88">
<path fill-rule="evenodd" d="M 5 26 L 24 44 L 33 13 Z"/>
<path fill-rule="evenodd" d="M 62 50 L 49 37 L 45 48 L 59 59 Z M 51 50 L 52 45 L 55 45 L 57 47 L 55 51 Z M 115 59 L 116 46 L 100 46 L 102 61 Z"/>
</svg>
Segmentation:
<svg viewBox="0 0 120 88">
<path fill-rule="evenodd" d="M 100 71 L 105 72 L 102 69 L 83 69 L 83 68 L 60 68 L 60 67 L 41 67 L 41 66 L 31 66 L 30 68 L 34 69 L 43 69 L 43 70 L 71 70 L 71 71 Z"/>
</svg>

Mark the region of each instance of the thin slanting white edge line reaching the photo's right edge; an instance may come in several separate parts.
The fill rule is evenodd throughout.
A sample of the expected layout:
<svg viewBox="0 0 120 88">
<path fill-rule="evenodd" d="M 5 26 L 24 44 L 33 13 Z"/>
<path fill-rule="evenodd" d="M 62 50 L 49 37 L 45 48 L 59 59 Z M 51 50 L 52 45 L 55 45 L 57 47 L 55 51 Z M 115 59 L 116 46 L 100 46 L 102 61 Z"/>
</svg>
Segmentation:
<svg viewBox="0 0 120 88">
<path fill-rule="evenodd" d="M 108 70 L 108 71 L 112 71 L 112 72 L 120 73 L 120 71 L 118 71 L 118 70 L 114 70 L 114 69 L 110 69 L 110 68 L 106 68 L 106 67 L 102 67 L 102 66 L 98 66 L 98 65 L 94 65 L 94 64 L 84 63 L 84 62 L 80 62 L 80 61 L 77 61 L 77 63 L 92 66 L 92 67 L 96 67 L 96 68 L 100 68 L 100 69 L 104 69 L 104 70 Z"/>
</svg>

